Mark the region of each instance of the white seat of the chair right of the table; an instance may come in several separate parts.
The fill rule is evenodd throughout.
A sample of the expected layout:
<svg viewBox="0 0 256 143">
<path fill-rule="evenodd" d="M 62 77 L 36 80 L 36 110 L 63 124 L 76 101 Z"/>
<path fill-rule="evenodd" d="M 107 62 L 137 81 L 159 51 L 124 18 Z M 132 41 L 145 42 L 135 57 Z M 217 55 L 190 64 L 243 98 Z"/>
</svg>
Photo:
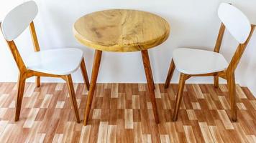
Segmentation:
<svg viewBox="0 0 256 143">
<path fill-rule="evenodd" d="M 228 66 L 221 54 L 201 49 L 175 49 L 173 61 L 176 69 L 184 74 L 209 74 L 223 71 Z"/>
</svg>

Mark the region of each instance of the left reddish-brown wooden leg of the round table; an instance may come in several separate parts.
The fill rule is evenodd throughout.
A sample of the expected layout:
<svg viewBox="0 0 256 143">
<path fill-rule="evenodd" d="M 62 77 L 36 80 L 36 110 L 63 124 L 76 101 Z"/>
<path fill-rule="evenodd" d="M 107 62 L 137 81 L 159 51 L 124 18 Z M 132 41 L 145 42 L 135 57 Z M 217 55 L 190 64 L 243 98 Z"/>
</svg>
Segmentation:
<svg viewBox="0 0 256 143">
<path fill-rule="evenodd" d="M 84 126 L 86 126 L 87 124 L 88 117 L 91 110 L 91 102 L 93 101 L 93 94 L 96 87 L 96 81 L 99 73 L 99 66 L 101 64 L 101 54 L 102 54 L 102 51 L 99 51 L 99 50 L 96 50 L 94 54 L 93 71 L 91 73 L 91 85 L 90 85 L 90 89 L 87 97 L 86 112 L 84 114 L 84 121 L 83 121 Z"/>
</svg>

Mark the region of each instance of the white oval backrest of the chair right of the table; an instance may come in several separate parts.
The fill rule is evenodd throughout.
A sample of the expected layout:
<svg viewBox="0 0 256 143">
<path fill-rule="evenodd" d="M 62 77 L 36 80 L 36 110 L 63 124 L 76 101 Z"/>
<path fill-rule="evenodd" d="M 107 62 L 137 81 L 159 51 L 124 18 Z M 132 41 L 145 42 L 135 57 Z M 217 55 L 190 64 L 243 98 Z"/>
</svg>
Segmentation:
<svg viewBox="0 0 256 143">
<path fill-rule="evenodd" d="M 236 7 L 226 3 L 220 4 L 218 15 L 234 39 L 240 44 L 244 44 L 251 31 L 251 24 L 247 16 Z"/>
</svg>

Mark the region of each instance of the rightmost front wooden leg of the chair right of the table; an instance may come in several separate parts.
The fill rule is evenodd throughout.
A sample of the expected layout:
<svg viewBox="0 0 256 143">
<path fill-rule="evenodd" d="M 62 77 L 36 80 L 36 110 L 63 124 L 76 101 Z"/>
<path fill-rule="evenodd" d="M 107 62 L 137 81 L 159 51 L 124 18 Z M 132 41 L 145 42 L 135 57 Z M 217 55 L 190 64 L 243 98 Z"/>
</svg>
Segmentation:
<svg viewBox="0 0 256 143">
<path fill-rule="evenodd" d="M 234 73 L 228 76 L 227 84 L 229 87 L 231 119 L 233 122 L 236 122 L 237 121 L 237 105 L 236 105 L 236 83 L 234 79 Z"/>
</svg>

